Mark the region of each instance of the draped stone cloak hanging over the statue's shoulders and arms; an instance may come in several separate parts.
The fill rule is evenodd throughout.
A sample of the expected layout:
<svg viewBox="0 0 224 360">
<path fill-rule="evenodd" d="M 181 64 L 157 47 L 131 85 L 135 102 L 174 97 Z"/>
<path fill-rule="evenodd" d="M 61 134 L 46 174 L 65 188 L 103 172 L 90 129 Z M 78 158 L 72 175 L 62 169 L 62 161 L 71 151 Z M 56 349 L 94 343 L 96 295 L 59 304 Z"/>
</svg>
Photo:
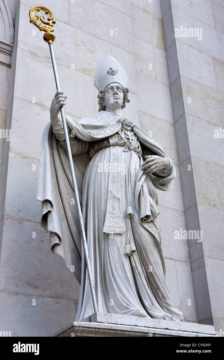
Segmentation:
<svg viewBox="0 0 224 360">
<path fill-rule="evenodd" d="M 86 116 L 81 120 L 77 120 L 72 116 L 66 116 L 66 122 L 70 132 L 70 143 L 72 141 L 71 134 L 77 139 L 88 143 L 98 141 L 99 139 L 112 139 L 113 135 L 121 128 L 121 122 L 118 121 L 118 118 L 112 113 L 105 111 Z M 140 163 L 144 161 L 145 155 L 154 154 L 169 158 L 157 141 L 149 137 L 143 130 L 135 126 L 133 127 L 133 131 L 143 151 L 142 157 L 139 156 Z M 164 170 L 162 175 L 160 172 L 160 174 L 154 173 L 147 176 L 143 174 L 143 170 L 139 168 L 134 193 L 139 222 L 156 239 L 164 274 L 165 264 L 161 249 L 160 226 L 157 219 L 160 210 L 157 206 L 158 199 L 156 189 L 167 191 L 170 190 L 173 185 L 176 170 L 170 158 L 169 160 L 171 170 L 169 170 L 169 173 L 166 173 L 166 170 Z M 86 168 L 90 161 L 91 158 L 88 151 L 80 155 L 73 155 L 73 165 L 81 206 L 83 181 Z M 37 189 L 37 200 L 42 202 L 41 229 L 45 232 L 50 231 L 51 250 L 64 258 L 68 268 L 74 272 L 76 279 L 81 282 L 81 232 L 76 204 L 72 201 L 75 198 L 72 187 L 72 178 L 65 144 L 62 146 L 62 144 L 59 143 L 55 137 L 51 123 L 48 123 L 41 139 Z M 104 224 L 104 227 L 105 225 L 106 224 Z M 108 231 L 106 230 L 106 232 L 113 233 L 113 230 L 109 229 Z M 114 232 L 119 231 L 115 230 Z M 82 266 L 85 267 L 84 258 L 82 258 Z M 180 314 L 179 317 L 181 317 Z M 180 318 L 178 320 L 180 320 Z"/>
</svg>

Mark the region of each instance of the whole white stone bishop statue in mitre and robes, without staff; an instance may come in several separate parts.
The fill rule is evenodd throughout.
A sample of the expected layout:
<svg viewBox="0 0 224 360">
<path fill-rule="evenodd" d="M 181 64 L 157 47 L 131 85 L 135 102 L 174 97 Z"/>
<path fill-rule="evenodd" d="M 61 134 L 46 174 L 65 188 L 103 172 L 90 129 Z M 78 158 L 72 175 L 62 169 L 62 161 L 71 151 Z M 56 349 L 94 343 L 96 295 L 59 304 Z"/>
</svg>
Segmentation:
<svg viewBox="0 0 224 360">
<path fill-rule="evenodd" d="M 127 75 L 112 57 L 100 61 L 95 86 L 98 113 L 81 120 L 66 116 L 66 122 L 98 311 L 183 321 L 165 284 L 156 192 L 171 189 L 175 167 L 135 119 L 122 117 L 130 101 Z M 52 251 L 63 256 L 81 283 L 76 316 L 81 321 L 94 309 L 59 117 L 65 101 L 57 91 L 51 103 L 51 122 L 41 140 L 37 199 Z"/>
</svg>

